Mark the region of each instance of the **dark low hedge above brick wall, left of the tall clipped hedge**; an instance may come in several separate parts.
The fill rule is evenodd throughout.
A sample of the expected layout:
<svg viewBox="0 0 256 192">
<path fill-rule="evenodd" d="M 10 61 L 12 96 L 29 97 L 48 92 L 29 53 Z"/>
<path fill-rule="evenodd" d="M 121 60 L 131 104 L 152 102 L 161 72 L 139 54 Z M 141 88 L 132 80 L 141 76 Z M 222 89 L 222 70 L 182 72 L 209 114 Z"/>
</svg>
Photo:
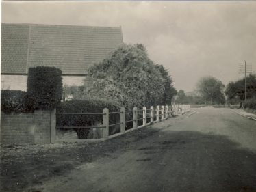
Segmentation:
<svg viewBox="0 0 256 192">
<path fill-rule="evenodd" d="M 26 92 L 23 91 L 1 90 L 1 111 L 5 113 L 29 112 L 26 96 Z"/>
</svg>

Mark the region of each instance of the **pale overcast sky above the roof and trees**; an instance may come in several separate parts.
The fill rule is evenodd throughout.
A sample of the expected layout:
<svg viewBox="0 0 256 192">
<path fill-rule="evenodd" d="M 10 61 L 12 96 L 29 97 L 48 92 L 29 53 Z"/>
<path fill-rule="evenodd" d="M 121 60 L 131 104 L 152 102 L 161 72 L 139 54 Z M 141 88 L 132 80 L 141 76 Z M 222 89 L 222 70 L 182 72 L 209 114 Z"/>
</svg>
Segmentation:
<svg viewBox="0 0 256 192">
<path fill-rule="evenodd" d="M 168 68 L 175 88 L 200 77 L 227 84 L 256 69 L 256 2 L 3 2 L 3 23 L 121 26 L 126 43 L 142 43 Z"/>
</svg>

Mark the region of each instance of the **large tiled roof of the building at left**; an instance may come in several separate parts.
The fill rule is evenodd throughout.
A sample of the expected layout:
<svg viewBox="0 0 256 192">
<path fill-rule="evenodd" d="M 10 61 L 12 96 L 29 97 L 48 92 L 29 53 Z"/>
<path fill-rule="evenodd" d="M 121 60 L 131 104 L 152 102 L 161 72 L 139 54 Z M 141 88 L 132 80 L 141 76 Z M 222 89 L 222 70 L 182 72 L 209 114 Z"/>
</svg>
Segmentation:
<svg viewBox="0 0 256 192">
<path fill-rule="evenodd" d="M 2 24 L 1 72 L 55 66 L 62 74 L 86 74 L 122 43 L 120 27 Z"/>
</svg>

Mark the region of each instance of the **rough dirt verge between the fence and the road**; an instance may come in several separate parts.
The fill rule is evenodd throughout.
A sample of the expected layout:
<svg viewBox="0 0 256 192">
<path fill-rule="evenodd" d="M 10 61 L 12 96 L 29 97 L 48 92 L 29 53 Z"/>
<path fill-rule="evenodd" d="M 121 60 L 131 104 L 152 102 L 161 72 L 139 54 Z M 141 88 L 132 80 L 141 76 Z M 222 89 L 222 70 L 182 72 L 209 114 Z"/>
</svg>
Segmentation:
<svg viewBox="0 0 256 192">
<path fill-rule="evenodd" d="M 173 118 L 172 122 L 183 118 Z M 1 146 L 0 191 L 23 191 L 41 184 L 53 176 L 70 172 L 81 163 L 95 161 L 116 150 L 125 150 L 130 143 L 149 137 L 165 126 L 164 121 L 159 122 L 100 143 Z"/>
</svg>

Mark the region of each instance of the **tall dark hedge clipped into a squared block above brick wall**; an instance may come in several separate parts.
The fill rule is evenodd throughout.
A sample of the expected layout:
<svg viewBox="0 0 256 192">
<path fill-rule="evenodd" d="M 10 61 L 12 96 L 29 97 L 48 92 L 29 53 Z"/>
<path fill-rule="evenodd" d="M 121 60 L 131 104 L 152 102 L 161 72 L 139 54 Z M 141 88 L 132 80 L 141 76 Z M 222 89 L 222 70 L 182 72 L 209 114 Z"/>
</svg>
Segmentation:
<svg viewBox="0 0 256 192">
<path fill-rule="evenodd" d="M 32 109 L 53 109 L 62 100 L 62 71 L 55 67 L 29 68 L 27 77 L 28 105 Z"/>
</svg>

